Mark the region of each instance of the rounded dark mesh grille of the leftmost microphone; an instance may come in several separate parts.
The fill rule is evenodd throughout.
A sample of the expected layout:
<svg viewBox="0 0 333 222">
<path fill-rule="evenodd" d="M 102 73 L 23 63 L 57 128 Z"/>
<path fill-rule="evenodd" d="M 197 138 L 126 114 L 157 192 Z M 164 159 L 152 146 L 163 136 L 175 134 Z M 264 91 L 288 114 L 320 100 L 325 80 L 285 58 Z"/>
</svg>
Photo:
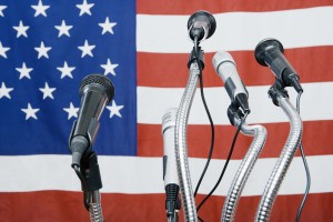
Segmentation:
<svg viewBox="0 0 333 222">
<path fill-rule="evenodd" d="M 80 94 L 83 93 L 83 90 L 88 84 L 102 85 L 104 88 L 104 90 L 107 92 L 107 97 L 108 97 L 107 104 L 112 100 L 112 98 L 114 95 L 114 87 L 113 87 L 111 80 L 109 80 L 107 77 L 104 77 L 102 74 L 89 74 L 89 75 L 87 75 L 81 81 L 80 89 L 79 89 Z"/>
</svg>

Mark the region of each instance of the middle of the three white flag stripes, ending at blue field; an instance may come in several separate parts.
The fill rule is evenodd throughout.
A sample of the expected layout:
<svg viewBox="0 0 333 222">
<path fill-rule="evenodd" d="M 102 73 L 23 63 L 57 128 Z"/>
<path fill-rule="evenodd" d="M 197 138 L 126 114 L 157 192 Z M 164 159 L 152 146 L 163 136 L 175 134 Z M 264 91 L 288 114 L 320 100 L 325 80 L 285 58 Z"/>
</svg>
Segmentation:
<svg viewBox="0 0 333 222">
<path fill-rule="evenodd" d="M 221 81 L 222 84 L 222 81 Z M 302 83 L 304 93 L 301 99 L 301 118 L 303 121 L 332 120 L 333 103 L 327 102 L 333 94 L 333 82 Z M 268 95 L 268 85 L 248 87 L 251 113 L 248 123 L 287 122 L 281 108 L 275 107 Z M 287 88 L 291 102 L 295 104 L 296 93 Z M 138 88 L 138 122 L 161 124 L 162 115 L 170 108 L 178 108 L 183 88 Z M 215 124 L 229 125 L 226 109 L 230 98 L 224 88 L 205 88 L 204 94 Z M 172 100 L 170 99 L 172 98 Z M 190 124 L 208 124 L 208 118 L 200 98 L 200 91 L 193 100 Z"/>
</svg>

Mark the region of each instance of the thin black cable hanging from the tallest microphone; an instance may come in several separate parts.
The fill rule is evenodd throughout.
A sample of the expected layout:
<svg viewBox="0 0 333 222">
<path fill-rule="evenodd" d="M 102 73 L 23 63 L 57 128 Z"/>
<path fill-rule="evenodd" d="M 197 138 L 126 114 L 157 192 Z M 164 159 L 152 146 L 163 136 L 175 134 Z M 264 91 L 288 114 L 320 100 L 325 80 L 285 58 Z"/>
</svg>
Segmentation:
<svg viewBox="0 0 333 222">
<path fill-rule="evenodd" d="M 200 63 L 200 60 L 199 60 L 199 46 L 198 46 L 198 37 L 194 37 L 194 53 L 195 53 L 195 60 L 196 60 L 196 63 L 198 63 L 198 68 L 199 68 L 199 80 L 200 80 L 200 94 L 201 94 L 201 100 L 202 100 L 202 103 L 203 103 L 203 107 L 204 107 L 204 110 L 206 112 L 206 115 L 209 118 L 209 121 L 210 121 L 210 127 L 211 127 L 211 147 L 210 147 L 210 151 L 209 151 L 209 157 L 206 159 L 206 163 L 204 165 L 204 169 L 201 173 L 201 176 L 198 181 L 198 184 L 195 186 L 195 191 L 194 191 L 194 198 L 196 196 L 196 193 L 198 193 L 198 190 L 201 185 L 201 182 L 204 178 L 204 174 L 209 168 L 209 164 L 211 162 L 211 159 L 212 159 L 212 154 L 213 154 L 213 150 L 214 150 L 214 140 L 215 140 L 215 130 L 214 130 L 214 123 L 213 123 L 213 120 L 212 120 L 212 117 L 211 117 L 211 113 L 210 113 L 210 110 L 206 105 L 206 102 L 205 102 L 205 98 L 204 98 L 204 93 L 203 93 L 203 79 L 202 79 L 202 67 L 201 67 L 201 63 Z"/>
</svg>

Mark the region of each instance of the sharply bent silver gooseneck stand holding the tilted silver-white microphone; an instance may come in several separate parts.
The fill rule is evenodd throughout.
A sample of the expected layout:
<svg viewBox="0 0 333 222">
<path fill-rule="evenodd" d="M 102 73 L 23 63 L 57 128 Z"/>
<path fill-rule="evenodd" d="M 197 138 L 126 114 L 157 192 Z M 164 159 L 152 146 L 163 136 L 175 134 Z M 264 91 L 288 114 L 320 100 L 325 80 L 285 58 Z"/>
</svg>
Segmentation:
<svg viewBox="0 0 333 222">
<path fill-rule="evenodd" d="M 232 102 L 228 108 L 228 117 L 230 123 L 234 127 L 239 127 L 242 123 L 244 114 L 239 109 L 235 102 Z M 249 137 L 254 137 L 241 165 L 239 167 L 235 176 L 229 189 L 229 193 L 225 196 L 221 221 L 233 221 L 241 198 L 243 188 L 248 181 L 248 178 L 262 151 L 262 148 L 266 141 L 268 132 L 262 125 L 248 125 L 243 122 L 241 132 Z"/>
</svg>

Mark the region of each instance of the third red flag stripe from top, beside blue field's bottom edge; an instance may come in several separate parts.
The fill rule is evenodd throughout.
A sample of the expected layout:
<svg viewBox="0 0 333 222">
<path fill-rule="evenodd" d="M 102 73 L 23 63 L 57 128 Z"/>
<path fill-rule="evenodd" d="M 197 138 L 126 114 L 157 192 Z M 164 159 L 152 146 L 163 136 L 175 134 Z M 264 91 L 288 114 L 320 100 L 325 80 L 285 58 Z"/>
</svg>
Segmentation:
<svg viewBox="0 0 333 222">
<path fill-rule="evenodd" d="M 286 141 L 289 123 L 265 123 L 263 124 L 269 134 L 266 143 L 260 158 L 278 158 Z M 331 141 L 331 129 L 333 121 L 304 121 L 303 122 L 303 145 L 306 155 L 333 154 Z M 233 140 L 236 128 L 232 125 L 215 125 L 215 145 L 213 158 L 225 159 Z M 139 124 L 138 125 L 138 155 L 139 157 L 162 157 L 163 139 L 161 125 Z M 188 152 L 189 157 L 206 158 L 210 148 L 210 125 L 188 127 Z M 253 138 L 240 134 L 235 144 L 232 159 L 244 158 Z M 300 152 L 296 152 L 300 155 Z"/>
</svg>

